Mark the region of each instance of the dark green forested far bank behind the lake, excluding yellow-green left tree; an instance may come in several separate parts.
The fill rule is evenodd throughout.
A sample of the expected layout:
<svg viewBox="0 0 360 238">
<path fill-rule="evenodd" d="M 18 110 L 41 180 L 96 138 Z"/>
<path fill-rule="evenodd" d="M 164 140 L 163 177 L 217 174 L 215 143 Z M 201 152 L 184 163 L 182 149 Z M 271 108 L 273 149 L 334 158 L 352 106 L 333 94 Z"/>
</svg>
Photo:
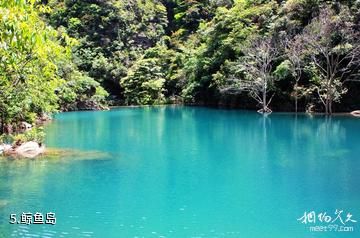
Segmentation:
<svg viewBox="0 0 360 238">
<path fill-rule="evenodd" d="M 273 104 L 276 110 L 328 113 L 333 104 L 338 110 L 359 106 L 360 87 L 353 82 L 358 64 L 349 61 L 359 47 L 355 0 L 54 0 L 49 5 L 56 9 L 50 23 L 80 41 L 73 49 L 76 65 L 122 104 L 182 101 L 263 110 Z M 326 29 L 333 30 L 314 38 Z M 259 63 L 254 60 L 261 57 L 249 54 L 261 55 L 251 50 L 260 38 L 271 41 L 276 57 L 267 62 L 267 72 L 254 75 Z M 316 41 L 320 45 L 311 43 Z M 331 45 L 327 55 L 315 49 L 321 44 Z M 327 57 L 340 62 L 332 78 L 321 70 Z"/>
</svg>

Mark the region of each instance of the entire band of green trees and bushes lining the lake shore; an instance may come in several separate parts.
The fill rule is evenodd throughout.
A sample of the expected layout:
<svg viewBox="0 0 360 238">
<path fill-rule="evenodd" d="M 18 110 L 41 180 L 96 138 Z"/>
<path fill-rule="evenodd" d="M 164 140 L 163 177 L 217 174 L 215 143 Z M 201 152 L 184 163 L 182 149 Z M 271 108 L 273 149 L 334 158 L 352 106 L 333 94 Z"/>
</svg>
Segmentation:
<svg viewBox="0 0 360 238">
<path fill-rule="evenodd" d="M 356 0 L 4 0 L 1 131 L 55 111 L 360 107 Z"/>
</svg>

